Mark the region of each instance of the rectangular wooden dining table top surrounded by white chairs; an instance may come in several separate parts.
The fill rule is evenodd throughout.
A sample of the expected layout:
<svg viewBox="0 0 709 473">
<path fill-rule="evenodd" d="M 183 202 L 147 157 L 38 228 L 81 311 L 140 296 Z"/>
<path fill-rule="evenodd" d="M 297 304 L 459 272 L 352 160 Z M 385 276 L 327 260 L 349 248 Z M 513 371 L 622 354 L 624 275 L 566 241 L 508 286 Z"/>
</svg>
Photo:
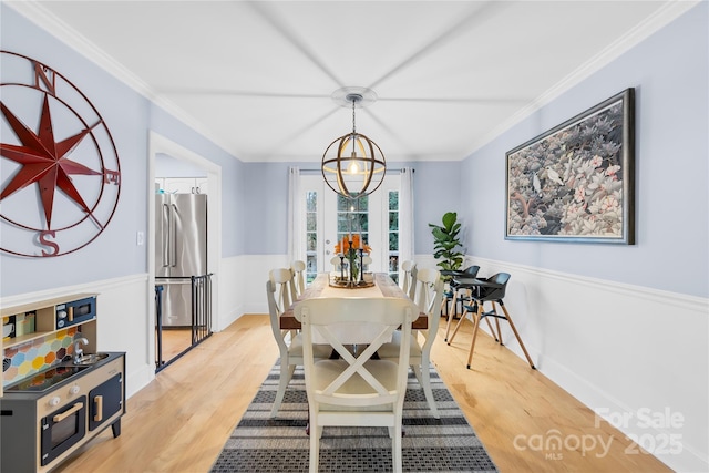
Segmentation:
<svg viewBox="0 0 709 473">
<path fill-rule="evenodd" d="M 387 273 L 372 274 L 373 285 L 367 287 L 338 287 L 331 285 L 335 276 L 330 273 L 320 273 L 310 282 L 310 286 L 300 295 L 294 304 L 286 309 L 279 319 L 279 326 L 282 330 L 299 330 L 300 322 L 296 319 L 295 307 L 298 302 L 319 298 L 319 297 L 400 297 L 408 299 L 409 296 L 397 285 L 397 282 Z M 425 330 L 429 327 L 429 318 L 425 312 L 420 312 L 419 317 L 413 321 L 411 328 L 414 330 Z"/>
</svg>

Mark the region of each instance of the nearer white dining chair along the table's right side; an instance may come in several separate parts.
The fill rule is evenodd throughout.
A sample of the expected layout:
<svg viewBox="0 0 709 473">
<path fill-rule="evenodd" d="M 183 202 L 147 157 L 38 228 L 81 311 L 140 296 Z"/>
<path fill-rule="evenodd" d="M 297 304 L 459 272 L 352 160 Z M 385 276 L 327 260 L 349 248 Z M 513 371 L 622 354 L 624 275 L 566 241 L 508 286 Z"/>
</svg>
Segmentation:
<svg viewBox="0 0 709 473">
<path fill-rule="evenodd" d="M 414 331 L 414 333 L 418 332 L 420 337 L 414 336 L 410 340 L 411 352 L 409 356 L 409 364 L 411 366 L 419 384 L 423 389 L 431 413 L 435 419 L 440 419 L 441 414 L 435 405 L 433 390 L 431 389 L 430 366 L 431 347 L 435 341 L 435 337 L 439 331 L 439 321 L 441 319 L 439 313 L 441 299 L 443 298 L 443 279 L 441 279 L 441 273 L 438 269 L 419 269 L 414 290 L 415 295 L 413 300 L 415 300 L 419 311 L 427 315 L 428 328 L 425 330 Z M 423 340 L 421 340 L 421 338 Z M 384 343 L 379 350 L 379 358 L 395 359 L 399 353 L 400 346 L 403 342 L 402 333 L 394 332 L 391 342 Z"/>
</svg>

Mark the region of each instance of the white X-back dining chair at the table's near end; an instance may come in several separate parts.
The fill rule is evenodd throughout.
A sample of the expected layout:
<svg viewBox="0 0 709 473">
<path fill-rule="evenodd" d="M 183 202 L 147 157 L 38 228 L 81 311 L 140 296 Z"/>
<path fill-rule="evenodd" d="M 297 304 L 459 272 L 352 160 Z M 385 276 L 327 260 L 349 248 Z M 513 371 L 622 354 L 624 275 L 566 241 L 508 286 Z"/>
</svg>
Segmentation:
<svg viewBox="0 0 709 473">
<path fill-rule="evenodd" d="M 418 307 L 402 298 L 321 298 L 299 302 L 304 366 L 310 422 L 310 472 L 318 471 L 323 426 L 386 426 L 389 429 L 394 472 L 402 471 L 401 435 L 407 391 L 411 322 Z M 379 336 L 350 352 L 338 330 L 342 325 L 377 326 Z M 401 327 L 397 361 L 372 359 Z M 325 337 L 339 353 L 337 360 L 317 360 L 312 336 Z"/>
</svg>

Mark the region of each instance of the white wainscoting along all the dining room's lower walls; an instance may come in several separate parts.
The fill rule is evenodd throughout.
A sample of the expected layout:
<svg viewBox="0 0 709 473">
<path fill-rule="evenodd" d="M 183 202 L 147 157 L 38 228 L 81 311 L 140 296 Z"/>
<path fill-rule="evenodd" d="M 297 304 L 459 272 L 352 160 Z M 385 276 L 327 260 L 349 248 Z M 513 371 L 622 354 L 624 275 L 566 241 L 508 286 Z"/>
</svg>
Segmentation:
<svg viewBox="0 0 709 473">
<path fill-rule="evenodd" d="M 654 441 L 658 449 L 668 435 L 679 435 L 681 452 L 655 452 L 670 467 L 709 470 L 707 299 L 505 261 L 466 259 L 465 266 L 480 265 L 481 276 L 512 275 L 505 305 L 540 372 L 602 417 L 627 419 L 617 425 L 626 434 Z M 431 256 L 417 255 L 415 260 L 419 267 L 435 267 Z M 220 274 L 215 275 L 219 300 L 213 329 L 223 330 L 244 313 L 267 313 L 268 271 L 288 265 L 285 255 L 223 259 Z M 7 297 L 2 304 L 99 292 L 99 349 L 127 353 L 126 393 L 131 397 L 155 377 L 154 294 L 147 279 L 141 274 L 94 281 Z M 503 337 L 507 348 L 522 357 L 508 329 Z M 474 370 L 475 358 L 471 376 Z M 643 415 L 668 411 L 682 417 L 681 425 L 645 425 Z"/>
</svg>

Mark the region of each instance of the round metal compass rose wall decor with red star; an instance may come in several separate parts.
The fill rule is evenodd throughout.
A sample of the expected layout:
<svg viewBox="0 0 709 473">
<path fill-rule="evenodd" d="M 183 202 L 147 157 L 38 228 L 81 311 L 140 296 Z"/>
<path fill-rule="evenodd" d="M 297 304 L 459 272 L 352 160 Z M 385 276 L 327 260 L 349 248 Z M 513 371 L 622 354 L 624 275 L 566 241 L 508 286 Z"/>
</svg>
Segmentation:
<svg viewBox="0 0 709 473">
<path fill-rule="evenodd" d="M 99 111 L 52 68 L 0 51 L 0 249 L 76 251 L 106 228 L 121 192 L 119 154 Z"/>
</svg>

